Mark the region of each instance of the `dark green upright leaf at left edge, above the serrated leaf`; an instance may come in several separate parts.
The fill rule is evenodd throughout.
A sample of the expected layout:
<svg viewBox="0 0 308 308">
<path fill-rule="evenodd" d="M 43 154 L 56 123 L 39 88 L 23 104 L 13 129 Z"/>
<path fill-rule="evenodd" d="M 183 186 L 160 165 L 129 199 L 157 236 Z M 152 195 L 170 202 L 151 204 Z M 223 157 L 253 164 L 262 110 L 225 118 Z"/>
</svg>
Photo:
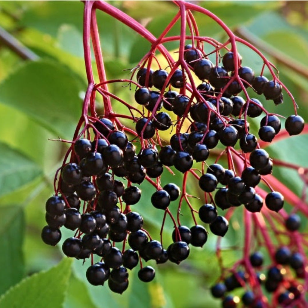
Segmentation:
<svg viewBox="0 0 308 308">
<path fill-rule="evenodd" d="M 24 274 L 22 243 L 25 221 L 22 208 L 10 205 L 0 208 L 0 294 L 21 280 Z"/>
</svg>

